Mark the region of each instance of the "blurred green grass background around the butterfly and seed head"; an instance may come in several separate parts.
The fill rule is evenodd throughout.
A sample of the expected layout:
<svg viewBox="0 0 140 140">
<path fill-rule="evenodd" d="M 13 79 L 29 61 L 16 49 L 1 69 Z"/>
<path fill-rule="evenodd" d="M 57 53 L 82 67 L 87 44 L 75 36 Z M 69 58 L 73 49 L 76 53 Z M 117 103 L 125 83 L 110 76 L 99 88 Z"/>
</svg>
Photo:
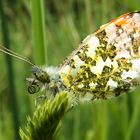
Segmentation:
<svg viewBox="0 0 140 140">
<path fill-rule="evenodd" d="M 102 24 L 140 9 L 139 0 L 42 0 L 40 20 L 33 1 L 39 0 L 0 0 L 0 44 L 38 65 L 59 65 Z M 36 33 L 39 24 L 43 30 Z M 30 65 L 0 52 L 0 140 L 18 140 L 19 126 L 24 128 L 35 110 L 38 95 L 29 95 L 25 81 L 30 76 Z M 63 118 L 56 139 L 140 139 L 140 88 L 75 107 Z"/>
</svg>

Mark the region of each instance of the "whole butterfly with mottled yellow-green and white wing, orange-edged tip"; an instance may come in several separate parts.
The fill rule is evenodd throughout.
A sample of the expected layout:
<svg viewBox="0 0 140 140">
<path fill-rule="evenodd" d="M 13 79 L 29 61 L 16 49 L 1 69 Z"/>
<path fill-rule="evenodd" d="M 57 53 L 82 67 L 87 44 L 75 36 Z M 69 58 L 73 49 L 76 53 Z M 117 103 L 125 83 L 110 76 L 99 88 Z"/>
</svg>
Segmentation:
<svg viewBox="0 0 140 140">
<path fill-rule="evenodd" d="M 18 57 L 12 51 L 0 49 Z M 20 58 L 23 60 L 23 58 Z M 27 60 L 23 60 L 26 61 Z M 140 11 L 126 13 L 88 35 L 59 67 L 38 67 L 28 91 L 61 91 L 84 100 L 119 96 L 140 85 Z"/>
</svg>

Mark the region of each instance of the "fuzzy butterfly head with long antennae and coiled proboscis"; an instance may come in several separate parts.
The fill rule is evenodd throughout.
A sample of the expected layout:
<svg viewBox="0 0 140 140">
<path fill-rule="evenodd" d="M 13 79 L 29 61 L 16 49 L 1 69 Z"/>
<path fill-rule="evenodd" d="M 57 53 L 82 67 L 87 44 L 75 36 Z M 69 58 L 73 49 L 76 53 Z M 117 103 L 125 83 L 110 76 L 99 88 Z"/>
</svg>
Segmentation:
<svg viewBox="0 0 140 140">
<path fill-rule="evenodd" d="M 10 55 L 14 58 L 17 58 L 30 66 L 32 66 L 32 73 L 34 74 L 34 78 L 26 78 L 26 81 L 28 82 L 28 92 L 30 94 L 34 94 L 40 91 L 40 88 L 44 88 L 47 91 L 55 94 L 57 92 L 56 88 L 58 88 L 58 68 L 48 68 L 43 69 L 41 67 L 36 66 L 34 63 L 32 63 L 27 58 L 13 52 L 12 50 L 9 50 L 3 46 L 0 45 L 0 52 L 5 53 L 7 55 Z M 52 81 L 53 79 L 53 81 Z M 55 82 L 55 80 L 56 82 Z"/>
</svg>

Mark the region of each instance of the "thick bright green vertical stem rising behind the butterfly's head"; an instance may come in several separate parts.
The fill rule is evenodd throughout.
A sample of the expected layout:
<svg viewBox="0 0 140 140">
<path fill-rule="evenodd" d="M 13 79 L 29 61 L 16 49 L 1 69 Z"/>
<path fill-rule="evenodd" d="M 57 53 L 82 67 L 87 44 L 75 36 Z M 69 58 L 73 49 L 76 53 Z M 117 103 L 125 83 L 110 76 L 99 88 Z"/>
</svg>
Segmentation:
<svg viewBox="0 0 140 140">
<path fill-rule="evenodd" d="M 47 62 L 45 45 L 44 0 L 31 0 L 34 60 L 38 65 Z"/>
</svg>

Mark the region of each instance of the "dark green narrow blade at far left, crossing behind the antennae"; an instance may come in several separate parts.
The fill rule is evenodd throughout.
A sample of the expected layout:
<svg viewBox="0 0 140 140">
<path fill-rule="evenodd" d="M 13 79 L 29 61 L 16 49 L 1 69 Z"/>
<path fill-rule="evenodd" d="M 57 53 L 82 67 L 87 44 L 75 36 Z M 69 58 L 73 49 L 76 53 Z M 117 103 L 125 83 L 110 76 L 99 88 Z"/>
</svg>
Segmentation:
<svg viewBox="0 0 140 140">
<path fill-rule="evenodd" d="M 9 39 L 9 30 L 8 30 L 8 21 L 4 11 L 4 1 L 0 0 L 0 18 L 1 18 L 1 27 L 2 27 L 2 35 L 3 35 L 3 43 L 4 46 L 8 49 L 10 48 L 10 39 Z M 15 93 L 15 85 L 14 85 L 14 72 L 13 72 L 13 63 L 10 56 L 6 55 L 6 65 L 8 71 L 8 94 L 10 97 L 11 109 L 12 109 L 12 117 L 14 122 L 13 131 L 15 133 L 15 140 L 19 140 L 19 117 L 18 117 L 18 106 L 17 99 Z"/>
</svg>

